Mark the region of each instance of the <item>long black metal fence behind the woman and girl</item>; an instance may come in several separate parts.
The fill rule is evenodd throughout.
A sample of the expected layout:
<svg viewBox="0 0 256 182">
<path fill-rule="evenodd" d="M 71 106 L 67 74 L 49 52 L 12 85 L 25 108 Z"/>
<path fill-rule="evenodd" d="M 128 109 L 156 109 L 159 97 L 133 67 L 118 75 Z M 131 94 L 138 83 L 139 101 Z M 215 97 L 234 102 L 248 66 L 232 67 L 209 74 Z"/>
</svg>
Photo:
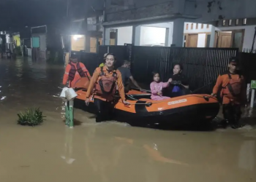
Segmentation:
<svg viewBox="0 0 256 182">
<path fill-rule="evenodd" d="M 162 81 L 166 82 L 173 74 L 173 66 L 181 63 L 191 90 L 203 87 L 198 92 L 211 92 L 218 74 L 227 69 L 229 58 L 238 53 L 238 49 L 233 48 L 99 47 L 100 56 L 108 51 L 116 55 L 118 66 L 123 60 L 131 59 L 132 75 L 143 84 L 152 82 L 152 71 L 159 71 Z"/>
</svg>

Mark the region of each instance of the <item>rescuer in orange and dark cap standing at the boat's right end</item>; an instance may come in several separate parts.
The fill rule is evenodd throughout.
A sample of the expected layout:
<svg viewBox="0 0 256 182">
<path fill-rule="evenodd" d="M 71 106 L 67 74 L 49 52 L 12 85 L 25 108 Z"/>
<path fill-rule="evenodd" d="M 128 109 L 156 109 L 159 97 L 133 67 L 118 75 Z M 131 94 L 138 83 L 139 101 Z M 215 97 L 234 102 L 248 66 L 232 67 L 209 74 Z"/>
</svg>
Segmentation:
<svg viewBox="0 0 256 182">
<path fill-rule="evenodd" d="M 241 104 L 246 98 L 244 76 L 237 71 L 238 60 L 230 58 L 228 71 L 220 74 L 211 95 L 217 96 L 220 91 L 225 127 L 230 124 L 234 129 L 243 127 L 241 118 Z"/>
</svg>

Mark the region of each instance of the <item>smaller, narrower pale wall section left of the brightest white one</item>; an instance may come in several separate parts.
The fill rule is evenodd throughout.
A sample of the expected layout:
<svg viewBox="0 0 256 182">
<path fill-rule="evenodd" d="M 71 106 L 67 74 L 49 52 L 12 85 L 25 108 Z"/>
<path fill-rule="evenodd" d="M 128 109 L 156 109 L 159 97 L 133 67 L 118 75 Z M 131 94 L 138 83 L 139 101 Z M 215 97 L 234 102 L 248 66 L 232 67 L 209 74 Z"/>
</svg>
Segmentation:
<svg viewBox="0 0 256 182">
<path fill-rule="evenodd" d="M 116 28 L 117 45 L 132 44 L 132 26 Z"/>
</svg>

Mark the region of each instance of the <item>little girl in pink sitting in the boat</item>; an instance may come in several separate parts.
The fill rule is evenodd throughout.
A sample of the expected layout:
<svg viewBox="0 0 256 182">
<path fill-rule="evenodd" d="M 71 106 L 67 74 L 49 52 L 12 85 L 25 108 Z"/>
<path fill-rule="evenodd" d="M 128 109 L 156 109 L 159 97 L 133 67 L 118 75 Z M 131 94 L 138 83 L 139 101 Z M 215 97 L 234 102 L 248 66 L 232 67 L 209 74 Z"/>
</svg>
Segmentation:
<svg viewBox="0 0 256 182">
<path fill-rule="evenodd" d="M 160 76 L 159 73 L 153 72 L 153 80 L 150 84 L 151 89 L 151 99 L 152 100 L 165 100 L 169 97 L 162 96 L 162 89 L 169 87 L 170 82 L 172 82 L 172 79 L 169 79 L 168 82 L 160 82 Z"/>
</svg>

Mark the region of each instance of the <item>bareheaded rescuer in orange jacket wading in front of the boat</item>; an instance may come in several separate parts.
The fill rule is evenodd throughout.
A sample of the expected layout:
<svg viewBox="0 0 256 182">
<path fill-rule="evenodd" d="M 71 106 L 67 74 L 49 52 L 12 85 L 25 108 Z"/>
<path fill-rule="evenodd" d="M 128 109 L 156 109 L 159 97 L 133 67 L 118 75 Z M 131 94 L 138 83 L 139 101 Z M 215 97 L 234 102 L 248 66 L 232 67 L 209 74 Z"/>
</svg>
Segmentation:
<svg viewBox="0 0 256 182">
<path fill-rule="evenodd" d="M 108 54 L 105 59 L 105 66 L 95 69 L 89 88 L 86 92 L 86 106 L 89 106 L 90 99 L 94 100 L 97 108 L 96 122 L 103 122 L 111 119 L 113 114 L 113 96 L 118 85 L 119 95 L 125 105 L 129 105 L 124 94 L 124 85 L 121 73 L 114 69 L 116 58 L 113 54 Z"/>
</svg>

